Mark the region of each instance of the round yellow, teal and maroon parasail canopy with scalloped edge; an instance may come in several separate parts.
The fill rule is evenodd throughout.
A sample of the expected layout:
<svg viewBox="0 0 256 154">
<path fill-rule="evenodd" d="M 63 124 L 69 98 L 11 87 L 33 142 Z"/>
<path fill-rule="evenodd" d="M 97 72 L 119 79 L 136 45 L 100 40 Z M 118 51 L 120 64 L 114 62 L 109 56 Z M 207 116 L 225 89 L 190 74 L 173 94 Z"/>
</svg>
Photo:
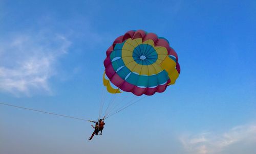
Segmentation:
<svg viewBox="0 0 256 154">
<path fill-rule="evenodd" d="M 143 30 L 116 38 L 106 50 L 104 66 L 103 84 L 110 93 L 126 91 L 137 96 L 163 92 L 180 73 L 178 55 L 169 42 Z"/>
</svg>

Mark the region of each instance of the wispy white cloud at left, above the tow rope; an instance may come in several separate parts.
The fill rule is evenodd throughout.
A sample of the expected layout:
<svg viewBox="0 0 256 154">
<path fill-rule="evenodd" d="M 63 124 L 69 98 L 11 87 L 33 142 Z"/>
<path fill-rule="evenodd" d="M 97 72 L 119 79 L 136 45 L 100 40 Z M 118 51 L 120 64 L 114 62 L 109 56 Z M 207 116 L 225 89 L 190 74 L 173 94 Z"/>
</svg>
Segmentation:
<svg viewBox="0 0 256 154">
<path fill-rule="evenodd" d="M 46 32 L 0 38 L 0 90 L 15 95 L 51 92 L 49 79 L 70 44 L 64 36 Z"/>
</svg>

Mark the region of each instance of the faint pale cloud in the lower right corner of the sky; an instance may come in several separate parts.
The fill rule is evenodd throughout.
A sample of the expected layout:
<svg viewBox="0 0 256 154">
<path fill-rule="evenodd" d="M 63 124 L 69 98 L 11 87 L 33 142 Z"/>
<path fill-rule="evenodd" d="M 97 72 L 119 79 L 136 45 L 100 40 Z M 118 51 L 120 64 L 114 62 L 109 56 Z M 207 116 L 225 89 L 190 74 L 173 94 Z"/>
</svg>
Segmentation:
<svg viewBox="0 0 256 154">
<path fill-rule="evenodd" d="M 249 149 L 256 143 L 256 124 L 236 126 L 222 134 L 208 132 L 186 135 L 182 136 L 180 141 L 187 152 L 191 154 L 246 153 L 239 150 L 234 151 L 234 149 L 244 149 L 247 148 L 246 146 Z"/>
</svg>

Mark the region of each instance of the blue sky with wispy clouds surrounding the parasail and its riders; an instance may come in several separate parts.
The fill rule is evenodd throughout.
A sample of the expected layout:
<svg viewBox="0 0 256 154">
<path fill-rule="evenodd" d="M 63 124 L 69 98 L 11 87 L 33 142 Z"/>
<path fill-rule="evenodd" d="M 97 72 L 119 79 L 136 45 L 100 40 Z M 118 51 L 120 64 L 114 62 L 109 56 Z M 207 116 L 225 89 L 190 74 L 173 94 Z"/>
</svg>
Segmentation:
<svg viewBox="0 0 256 154">
<path fill-rule="evenodd" d="M 0 106 L 0 153 L 255 153 L 255 14 L 255 1 L 0 1 L 0 102 L 97 119 L 105 50 L 129 30 L 167 38 L 181 65 L 92 141 L 89 122 Z"/>
</svg>

